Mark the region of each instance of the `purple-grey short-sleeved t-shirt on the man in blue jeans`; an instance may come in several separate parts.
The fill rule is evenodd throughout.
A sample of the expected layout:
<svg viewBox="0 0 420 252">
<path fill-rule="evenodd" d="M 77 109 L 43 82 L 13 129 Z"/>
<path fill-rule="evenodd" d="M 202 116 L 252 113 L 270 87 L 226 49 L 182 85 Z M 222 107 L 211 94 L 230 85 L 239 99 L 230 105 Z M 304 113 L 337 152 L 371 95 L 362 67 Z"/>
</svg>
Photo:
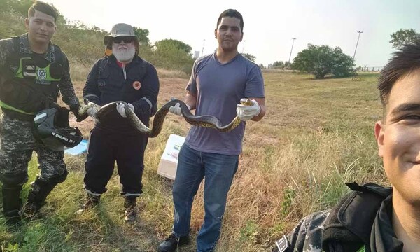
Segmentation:
<svg viewBox="0 0 420 252">
<path fill-rule="evenodd" d="M 223 125 L 237 116 L 241 98 L 265 97 L 260 67 L 240 54 L 226 64 L 218 62 L 216 53 L 197 59 L 186 90 L 197 96 L 195 115 L 216 116 Z M 186 145 L 207 153 L 239 155 L 244 131 L 244 122 L 230 132 L 193 126 Z"/>
</svg>

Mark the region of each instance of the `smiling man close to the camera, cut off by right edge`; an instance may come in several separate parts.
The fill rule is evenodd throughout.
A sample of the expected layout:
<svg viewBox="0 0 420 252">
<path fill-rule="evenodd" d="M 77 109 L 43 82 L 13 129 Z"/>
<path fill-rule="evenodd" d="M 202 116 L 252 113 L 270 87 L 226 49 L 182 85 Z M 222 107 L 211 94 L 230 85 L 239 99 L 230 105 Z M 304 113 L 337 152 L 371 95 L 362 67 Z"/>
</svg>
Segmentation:
<svg viewBox="0 0 420 252">
<path fill-rule="evenodd" d="M 394 52 L 379 77 L 384 118 L 374 127 L 392 188 L 346 183 L 353 192 L 311 214 L 273 251 L 420 251 L 420 41 Z"/>
</svg>

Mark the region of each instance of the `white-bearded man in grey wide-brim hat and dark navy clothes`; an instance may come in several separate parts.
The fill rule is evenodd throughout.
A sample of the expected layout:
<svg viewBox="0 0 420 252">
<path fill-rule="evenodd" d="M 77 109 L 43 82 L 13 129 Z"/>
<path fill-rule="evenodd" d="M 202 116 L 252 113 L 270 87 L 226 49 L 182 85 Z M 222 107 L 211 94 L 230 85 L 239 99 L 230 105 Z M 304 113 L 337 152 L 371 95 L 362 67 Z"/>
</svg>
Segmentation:
<svg viewBox="0 0 420 252">
<path fill-rule="evenodd" d="M 139 39 L 131 25 L 114 25 L 111 34 L 104 37 L 104 45 L 106 56 L 92 67 L 83 88 L 83 99 L 99 106 L 116 101 L 124 101 L 128 106 L 119 103 L 115 111 L 95 122 L 85 163 L 87 197 L 78 214 L 99 204 L 117 162 L 123 185 L 121 195 L 125 198 L 125 221 L 135 221 L 148 137 L 130 125 L 125 110 L 132 109 L 149 125 L 158 106 L 158 73 L 151 63 L 137 55 Z M 95 118 L 97 110 L 89 109 L 87 113 Z"/>
</svg>

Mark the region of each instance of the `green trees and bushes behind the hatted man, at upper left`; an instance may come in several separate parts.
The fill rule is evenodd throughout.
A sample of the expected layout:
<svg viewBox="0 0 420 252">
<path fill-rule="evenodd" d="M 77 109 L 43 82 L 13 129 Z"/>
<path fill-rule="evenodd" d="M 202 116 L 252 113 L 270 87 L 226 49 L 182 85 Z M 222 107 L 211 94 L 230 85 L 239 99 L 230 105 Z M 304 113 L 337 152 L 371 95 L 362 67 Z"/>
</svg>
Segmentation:
<svg viewBox="0 0 420 252">
<path fill-rule="evenodd" d="M 0 0 L 0 38 L 19 36 L 27 32 L 23 20 L 32 0 Z M 57 10 L 57 9 L 56 9 Z M 109 34 L 99 27 L 71 22 L 57 10 L 57 31 L 52 42 L 69 57 L 70 63 L 79 62 L 90 67 L 104 56 L 104 36 Z M 163 39 L 152 44 L 148 29 L 134 27 L 139 37 L 139 55 L 160 69 L 183 71 L 190 74 L 194 59 L 190 45 L 175 39 Z"/>
</svg>

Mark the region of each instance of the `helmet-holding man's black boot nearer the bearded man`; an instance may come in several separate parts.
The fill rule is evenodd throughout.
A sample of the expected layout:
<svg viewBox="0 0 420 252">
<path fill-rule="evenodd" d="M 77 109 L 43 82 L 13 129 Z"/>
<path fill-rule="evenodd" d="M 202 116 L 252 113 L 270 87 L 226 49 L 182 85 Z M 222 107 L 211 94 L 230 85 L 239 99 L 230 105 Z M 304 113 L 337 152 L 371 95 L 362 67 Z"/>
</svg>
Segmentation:
<svg viewBox="0 0 420 252">
<path fill-rule="evenodd" d="M 20 212 L 22 218 L 41 218 L 41 207 L 45 204 L 45 199 L 55 186 L 57 186 L 57 183 L 48 183 L 38 178 L 32 182 L 31 189 L 28 193 L 28 200 Z"/>
</svg>

